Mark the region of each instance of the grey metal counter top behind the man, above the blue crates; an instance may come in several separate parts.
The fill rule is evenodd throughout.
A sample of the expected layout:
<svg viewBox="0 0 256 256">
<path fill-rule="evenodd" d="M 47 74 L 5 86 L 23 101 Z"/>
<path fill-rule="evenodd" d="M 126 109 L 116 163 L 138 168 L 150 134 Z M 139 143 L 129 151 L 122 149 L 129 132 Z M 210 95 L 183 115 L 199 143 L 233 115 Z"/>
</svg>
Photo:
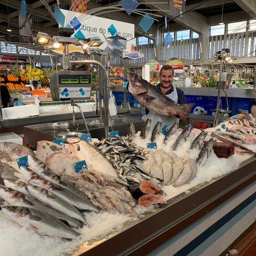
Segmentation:
<svg viewBox="0 0 256 256">
<path fill-rule="evenodd" d="M 179 87 L 185 95 L 196 96 L 218 96 L 216 88 L 196 88 L 196 87 Z M 225 90 L 228 97 L 233 98 L 256 98 L 256 89 L 246 88 L 228 88 Z M 225 97 L 225 93 L 221 91 L 221 97 Z"/>
</svg>

